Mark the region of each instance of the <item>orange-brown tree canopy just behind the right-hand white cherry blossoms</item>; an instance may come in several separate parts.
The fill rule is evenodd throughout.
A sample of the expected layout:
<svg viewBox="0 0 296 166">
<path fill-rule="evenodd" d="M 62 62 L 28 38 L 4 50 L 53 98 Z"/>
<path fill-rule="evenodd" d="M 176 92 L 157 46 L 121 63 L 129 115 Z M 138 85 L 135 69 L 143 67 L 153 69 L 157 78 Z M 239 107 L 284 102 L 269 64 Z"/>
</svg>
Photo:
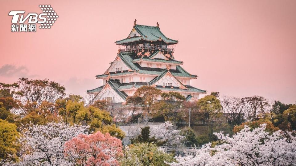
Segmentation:
<svg viewBox="0 0 296 166">
<path fill-rule="evenodd" d="M 252 131 L 253 129 L 260 127 L 260 124 L 266 124 L 265 132 L 269 132 L 271 134 L 273 132 L 279 130 L 279 128 L 278 127 L 275 127 L 271 123 L 271 121 L 265 120 L 265 119 L 260 119 L 260 120 L 257 120 L 257 121 L 244 122 L 241 125 L 234 126 L 233 132 L 234 133 L 237 133 L 237 132 L 241 131 L 242 129 L 245 128 L 245 125 L 249 126 L 250 130 Z"/>
</svg>

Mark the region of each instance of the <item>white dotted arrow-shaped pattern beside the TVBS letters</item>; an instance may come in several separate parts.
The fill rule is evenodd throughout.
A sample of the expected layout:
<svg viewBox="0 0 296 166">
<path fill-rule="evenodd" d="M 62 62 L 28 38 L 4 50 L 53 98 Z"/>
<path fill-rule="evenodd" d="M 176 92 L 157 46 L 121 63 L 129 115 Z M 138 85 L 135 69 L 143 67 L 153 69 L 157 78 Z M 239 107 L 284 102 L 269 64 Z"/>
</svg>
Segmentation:
<svg viewBox="0 0 296 166">
<path fill-rule="evenodd" d="M 39 28 L 40 29 L 50 29 L 51 26 L 55 23 L 56 19 L 59 18 L 58 15 L 56 15 L 55 10 L 50 5 L 39 5 L 43 13 L 47 14 L 47 20 L 46 22 L 42 23 Z"/>
</svg>

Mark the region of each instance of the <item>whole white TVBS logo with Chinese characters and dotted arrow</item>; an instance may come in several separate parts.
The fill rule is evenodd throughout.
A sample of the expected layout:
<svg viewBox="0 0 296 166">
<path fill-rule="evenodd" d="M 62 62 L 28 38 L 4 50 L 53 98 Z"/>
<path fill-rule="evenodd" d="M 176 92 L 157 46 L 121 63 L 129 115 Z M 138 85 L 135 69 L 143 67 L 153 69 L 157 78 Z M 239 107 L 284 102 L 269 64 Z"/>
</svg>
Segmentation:
<svg viewBox="0 0 296 166">
<path fill-rule="evenodd" d="M 43 13 L 29 13 L 25 11 L 10 11 L 12 16 L 11 32 L 36 32 L 36 23 L 40 29 L 50 29 L 59 17 L 50 5 L 39 5 Z M 28 24 L 24 24 L 27 22 Z"/>
</svg>

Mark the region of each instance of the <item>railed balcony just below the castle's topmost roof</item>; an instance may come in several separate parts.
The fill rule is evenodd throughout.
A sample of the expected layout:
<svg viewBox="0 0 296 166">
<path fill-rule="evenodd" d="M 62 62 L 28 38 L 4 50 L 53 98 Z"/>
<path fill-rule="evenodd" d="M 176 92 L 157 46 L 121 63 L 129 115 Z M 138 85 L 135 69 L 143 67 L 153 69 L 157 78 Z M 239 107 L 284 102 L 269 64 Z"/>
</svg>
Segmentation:
<svg viewBox="0 0 296 166">
<path fill-rule="evenodd" d="M 167 48 L 165 46 L 162 45 L 133 45 L 133 47 L 126 47 L 126 48 L 119 48 L 120 51 L 122 52 L 134 52 L 134 51 L 138 51 L 138 50 L 149 50 L 149 51 L 166 51 L 169 53 L 174 53 L 174 49 L 173 48 Z"/>
</svg>

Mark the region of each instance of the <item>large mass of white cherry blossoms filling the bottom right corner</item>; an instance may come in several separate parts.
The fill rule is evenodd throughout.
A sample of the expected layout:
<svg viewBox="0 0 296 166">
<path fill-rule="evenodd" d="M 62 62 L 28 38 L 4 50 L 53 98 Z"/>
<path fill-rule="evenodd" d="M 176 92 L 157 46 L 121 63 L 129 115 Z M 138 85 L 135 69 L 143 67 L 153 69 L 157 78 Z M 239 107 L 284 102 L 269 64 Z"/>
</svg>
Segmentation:
<svg viewBox="0 0 296 166">
<path fill-rule="evenodd" d="M 266 124 L 250 131 L 248 126 L 229 137 L 223 132 L 214 133 L 219 143 L 206 144 L 196 151 L 196 156 L 176 157 L 171 166 L 212 166 L 212 165 L 295 165 L 296 138 L 291 132 L 278 130 L 265 132 Z"/>
</svg>

